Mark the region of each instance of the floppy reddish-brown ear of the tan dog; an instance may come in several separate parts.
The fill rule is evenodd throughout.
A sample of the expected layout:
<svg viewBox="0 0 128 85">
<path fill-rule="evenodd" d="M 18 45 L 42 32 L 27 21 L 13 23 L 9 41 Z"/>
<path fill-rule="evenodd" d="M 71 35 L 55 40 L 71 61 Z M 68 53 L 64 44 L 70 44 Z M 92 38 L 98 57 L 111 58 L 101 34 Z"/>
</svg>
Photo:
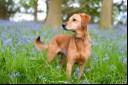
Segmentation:
<svg viewBox="0 0 128 85">
<path fill-rule="evenodd" d="M 81 26 L 82 26 L 82 27 L 86 27 L 87 24 L 88 24 L 88 23 L 90 22 L 90 20 L 91 20 L 91 16 L 89 16 L 89 15 L 87 15 L 87 14 L 85 14 L 85 13 L 81 13 L 80 16 L 81 16 L 81 19 L 82 19 L 82 21 L 81 21 Z"/>
</svg>

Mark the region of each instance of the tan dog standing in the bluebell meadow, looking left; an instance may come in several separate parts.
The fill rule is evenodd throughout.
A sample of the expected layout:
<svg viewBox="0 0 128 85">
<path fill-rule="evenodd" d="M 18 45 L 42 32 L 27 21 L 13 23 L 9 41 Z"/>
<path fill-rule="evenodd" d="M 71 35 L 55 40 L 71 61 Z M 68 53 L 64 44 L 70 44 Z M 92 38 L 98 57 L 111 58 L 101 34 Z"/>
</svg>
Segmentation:
<svg viewBox="0 0 128 85">
<path fill-rule="evenodd" d="M 47 50 L 47 62 L 51 62 L 55 55 L 61 53 L 61 65 L 67 62 L 66 74 L 69 79 L 72 66 L 80 65 L 79 79 L 84 71 L 85 63 L 91 55 L 91 39 L 88 32 L 88 23 L 91 17 L 87 14 L 74 14 L 62 24 L 63 29 L 73 31 L 74 35 L 56 35 L 48 45 L 43 45 L 40 37 L 35 40 L 35 46 L 39 50 Z"/>
</svg>

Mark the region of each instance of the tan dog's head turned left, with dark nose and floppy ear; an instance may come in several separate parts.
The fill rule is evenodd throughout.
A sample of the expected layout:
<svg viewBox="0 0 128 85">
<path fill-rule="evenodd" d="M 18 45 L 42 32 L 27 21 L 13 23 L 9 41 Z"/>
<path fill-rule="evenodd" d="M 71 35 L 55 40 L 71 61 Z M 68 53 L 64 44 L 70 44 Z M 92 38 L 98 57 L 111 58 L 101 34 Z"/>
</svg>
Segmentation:
<svg viewBox="0 0 128 85">
<path fill-rule="evenodd" d="M 66 23 L 62 24 L 64 30 L 76 31 L 87 27 L 90 22 L 91 16 L 80 13 L 72 15 Z"/>
</svg>

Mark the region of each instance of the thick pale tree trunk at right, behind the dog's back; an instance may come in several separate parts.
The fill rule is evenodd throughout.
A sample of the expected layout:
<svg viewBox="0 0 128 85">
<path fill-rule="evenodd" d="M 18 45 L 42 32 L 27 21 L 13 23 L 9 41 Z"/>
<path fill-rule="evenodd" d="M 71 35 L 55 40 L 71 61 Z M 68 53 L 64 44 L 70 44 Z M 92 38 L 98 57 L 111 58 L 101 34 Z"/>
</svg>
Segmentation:
<svg viewBox="0 0 128 85">
<path fill-rule="evenodd" d="M 111 28 L 113 0 L 103 0 L 100 15 L 100 28 Z"/>
</svg>

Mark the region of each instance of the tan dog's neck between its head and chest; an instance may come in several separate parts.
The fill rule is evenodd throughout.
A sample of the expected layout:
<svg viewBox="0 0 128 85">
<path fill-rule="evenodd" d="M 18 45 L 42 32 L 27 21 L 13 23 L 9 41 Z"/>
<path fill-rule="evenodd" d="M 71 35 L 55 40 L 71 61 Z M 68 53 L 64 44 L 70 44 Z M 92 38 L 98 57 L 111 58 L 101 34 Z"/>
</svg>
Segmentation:
<svg viewBox="0 0 128 85">
<path fill-rule="evenodd" d="M 88 36 L 87 28 L 81 28 L 80 30 L 77 30 L 75 32 L 75 38 L 84 39 L 85 40 L 87 36 Z"/>
</svg>

